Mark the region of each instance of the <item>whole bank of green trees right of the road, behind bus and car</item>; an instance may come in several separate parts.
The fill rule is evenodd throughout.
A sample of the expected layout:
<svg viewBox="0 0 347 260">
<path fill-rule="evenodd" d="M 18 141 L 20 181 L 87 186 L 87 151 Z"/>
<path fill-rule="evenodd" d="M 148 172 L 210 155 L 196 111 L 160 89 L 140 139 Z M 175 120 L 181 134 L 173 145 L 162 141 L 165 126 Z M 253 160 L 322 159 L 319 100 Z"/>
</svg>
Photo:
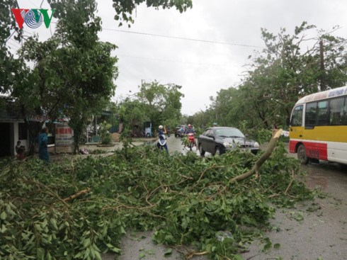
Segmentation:
<svg viewBox="0 0 347 260">
<path fill-rule="evenodd" d="M 251 66 L 237 88 L 222 89 L 212 98 L 207 121 L 237 126 L 246 120 L 252 128 L 283 125 L 300 96 L 345 85 L 347 40 L 334 36 L 339 26 L 308 37 L 315 28 L 303 22 L 292 35 L 285 28 L 277 35 L 262 28 L 266 48 L 249 57 Z"/>
</svg>

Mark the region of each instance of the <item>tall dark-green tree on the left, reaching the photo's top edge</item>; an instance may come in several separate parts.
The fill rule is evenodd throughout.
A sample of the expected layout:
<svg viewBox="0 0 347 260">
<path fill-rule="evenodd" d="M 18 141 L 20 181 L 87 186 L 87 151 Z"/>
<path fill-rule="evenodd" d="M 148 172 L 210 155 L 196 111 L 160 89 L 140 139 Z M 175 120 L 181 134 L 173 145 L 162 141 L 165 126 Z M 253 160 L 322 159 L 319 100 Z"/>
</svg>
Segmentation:
<svg viewBox="0 0 347 260">
<path fill-rule="evenodd" d="M 98 41 L 101 18 L 95 0 L 49 1 L 59 19 L 56 37 L 62 43 L 57 74 L 62 79 L 64 114 L 74 129 L 74 152 L 88 118 L 100 111 L 115 91 L 117 59 L 111 57 L 115 45 Z"/>
</svg>

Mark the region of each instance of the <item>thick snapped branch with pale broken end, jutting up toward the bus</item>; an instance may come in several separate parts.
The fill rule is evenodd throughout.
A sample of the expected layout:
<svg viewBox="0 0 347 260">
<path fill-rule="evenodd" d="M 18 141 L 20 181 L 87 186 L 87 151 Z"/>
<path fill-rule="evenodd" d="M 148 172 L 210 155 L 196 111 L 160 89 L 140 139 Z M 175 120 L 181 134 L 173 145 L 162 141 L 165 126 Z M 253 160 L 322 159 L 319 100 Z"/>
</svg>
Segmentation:
<svg viewBox="0 0 347 260">
<path fill-rule="evenodd" d="M 273 136 L 271 137 L 270 142 L 268 143 L 268 148 L 263 153 L 263 155 L 261 155 L 261 157 L 256 161 L 253 168 L 244 174 L 241 174 L 239 176 L 234 177 L 233 179 L 230 180 L 230 183 L 244 180 L 244 179 L 248 178 L 249 176 L 252 176 L 253 174 L 258 175 L 258 171 L 259 171 L 261 165 L 268 159 L 268 157 L 271 156 L 273 149 L 275 149 L 277 142 L 278 142 L 278 138 L 280 137 L 281 133 L 282 133 L 282 129 L 279 129 L 276 132 L 274 132 Z"/>
</svg>

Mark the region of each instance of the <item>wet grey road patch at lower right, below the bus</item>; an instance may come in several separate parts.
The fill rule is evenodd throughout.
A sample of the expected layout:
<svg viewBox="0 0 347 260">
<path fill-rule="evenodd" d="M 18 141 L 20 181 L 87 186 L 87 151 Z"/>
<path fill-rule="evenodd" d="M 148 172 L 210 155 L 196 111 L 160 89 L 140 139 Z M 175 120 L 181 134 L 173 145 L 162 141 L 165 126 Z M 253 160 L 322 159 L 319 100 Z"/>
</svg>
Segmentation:
<svg viewBox="0 0 347 260">
<path fill-rule="evenodd" d="M 264 244 L 255 242 L 244 259 L 346 260 L 347 259 L 347 171 L 339 164 L 322 162 L 302 165 L 305 183 L 318 188 L 326 198 L 317 198 L 278 209 L 271 221 L 276 231 L 266 234 L 279 249 L 263 252 Z"/>
</svg>

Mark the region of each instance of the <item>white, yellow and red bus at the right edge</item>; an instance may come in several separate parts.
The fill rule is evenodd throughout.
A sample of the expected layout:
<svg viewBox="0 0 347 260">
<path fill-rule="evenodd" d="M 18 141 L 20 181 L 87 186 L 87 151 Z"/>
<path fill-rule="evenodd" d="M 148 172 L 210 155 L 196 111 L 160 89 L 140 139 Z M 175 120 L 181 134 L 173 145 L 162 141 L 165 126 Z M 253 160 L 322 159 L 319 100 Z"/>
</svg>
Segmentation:
<svg viewBox="0 0 347 260">
<path fill-rule="evenodd" d="M 290 117 L 289 151 L 302 164 L 347 164 L 347 86 L 300 98 Z"/>
</svg>

